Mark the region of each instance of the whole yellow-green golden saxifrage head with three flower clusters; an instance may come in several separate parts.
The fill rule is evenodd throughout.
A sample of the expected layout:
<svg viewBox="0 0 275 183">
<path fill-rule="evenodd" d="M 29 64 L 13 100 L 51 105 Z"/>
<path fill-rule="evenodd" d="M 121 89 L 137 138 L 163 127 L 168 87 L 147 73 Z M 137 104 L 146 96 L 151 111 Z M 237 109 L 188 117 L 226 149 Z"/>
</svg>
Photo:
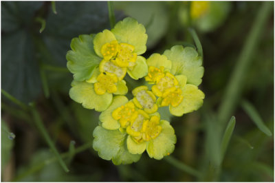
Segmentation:
<svg viewBox="0 0 275 183">
<path fill-rule="evenodd" d="M 203 104 L 197 51 L 175 45 L 146 59 L 140 55 L 146 52 L 147 37 L 144 25 L 127 17 L 112 30 L 72 39 L 67 52 L 67 67 L 74 74 L 69 96 L 101 112 L 93 147 L 113 164 L 137 162 L 144 151 L 157 160 L 173 153 L 175 131 L 162 120 L 159 107 L 168 106 L 170 114 L 182 116 Z M 126 74 L 146 80 L 131 91 L 130 100 L 125 96 Z"/>
</svg>

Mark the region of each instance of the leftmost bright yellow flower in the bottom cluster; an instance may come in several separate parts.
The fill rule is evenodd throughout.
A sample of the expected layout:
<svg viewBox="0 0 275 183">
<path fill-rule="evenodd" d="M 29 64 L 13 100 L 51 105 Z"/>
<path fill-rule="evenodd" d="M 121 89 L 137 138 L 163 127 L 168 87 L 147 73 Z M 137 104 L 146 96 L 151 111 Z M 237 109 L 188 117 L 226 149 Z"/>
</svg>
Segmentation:
<svg viewBox="0 0 275 183">
<path fill-rule="evenodd" d="M 120 125 L 122 128 L 126 128 L 128 125 L 130 125 L 130 120 L 132 116 L 134 116 L 134 114 L 137 114 L 137 111 L 135 110 L 135 105 L 133 104 L 133 102 L 129 102 L 115 109 L 112 113 L 112 116 L 115 120 L 120 121 Z"/>
</svg>

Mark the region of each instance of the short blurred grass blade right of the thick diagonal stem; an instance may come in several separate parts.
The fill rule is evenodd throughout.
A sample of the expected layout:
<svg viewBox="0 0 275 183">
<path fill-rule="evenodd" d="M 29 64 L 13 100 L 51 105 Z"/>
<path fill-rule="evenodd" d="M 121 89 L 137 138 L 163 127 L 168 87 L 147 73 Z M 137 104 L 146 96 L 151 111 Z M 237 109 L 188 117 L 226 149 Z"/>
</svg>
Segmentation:
<svg viewBox="0 0 275 183">
<path fill-rule="evenodd" d="M 255 123 L 255 125 L 263 131 L 267 136 L 272 136 L 272 133 L 270 129 L 268 129 L 267 126 L 265 126 L 265 123 L 261 119 L 261 116 L 259 113 L 256 111 L 255 107 L 249 103 L 247 100 L 242 100 L 241 101 L 241 107 L 245 110 L 245 112 L 250 116 L 252 121 Z"/>
</svg>

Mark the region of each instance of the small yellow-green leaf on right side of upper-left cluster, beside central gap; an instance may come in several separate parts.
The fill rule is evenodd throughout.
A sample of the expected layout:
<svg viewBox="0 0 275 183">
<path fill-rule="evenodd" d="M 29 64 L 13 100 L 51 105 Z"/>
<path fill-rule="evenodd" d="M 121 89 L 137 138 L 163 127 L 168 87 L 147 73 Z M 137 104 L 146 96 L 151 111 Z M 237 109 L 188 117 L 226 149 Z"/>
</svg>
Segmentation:
<svg viewBox="0 0 275 183">
<path fill-rule="evenodd" d="M 137 56 L 136 65 L 133 69 L 127 69 L 129 76 L 135 80 L 142 78 L 148 74 L 148 66 L 143 56 Z"/>
</svg>

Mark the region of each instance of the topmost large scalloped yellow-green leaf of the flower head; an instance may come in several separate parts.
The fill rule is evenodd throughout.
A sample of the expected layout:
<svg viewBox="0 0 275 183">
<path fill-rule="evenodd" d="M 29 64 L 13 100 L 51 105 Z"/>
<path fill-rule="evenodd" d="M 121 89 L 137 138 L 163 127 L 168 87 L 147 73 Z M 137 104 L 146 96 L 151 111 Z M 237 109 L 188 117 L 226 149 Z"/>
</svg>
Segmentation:
<svg viewBox="0 0 275 183">
<path fill-rule="evenodd" d="M 115 28 L 111 30 L 119 43 L 128 43 L 135 47 L 133 52 L 138 55 L 146 51 L 147 34 L 144 25 L 138 23 L 135 19 L 127 17 L 116 23 Z"/>
</svg>

